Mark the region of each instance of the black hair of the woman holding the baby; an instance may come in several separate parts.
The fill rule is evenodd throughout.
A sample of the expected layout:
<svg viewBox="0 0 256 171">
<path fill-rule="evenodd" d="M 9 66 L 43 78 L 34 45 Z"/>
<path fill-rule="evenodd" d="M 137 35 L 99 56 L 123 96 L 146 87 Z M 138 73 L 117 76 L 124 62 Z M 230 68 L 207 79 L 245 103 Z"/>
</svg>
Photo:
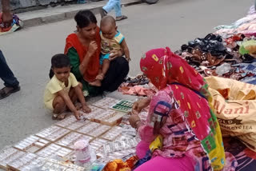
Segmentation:
<svg viewBox="0 0 256 171">
<path fill-rule="evenodd" d="M 75 14 L 74 20 L 77 22 L 77 26 L 80 28 L 89 26 L 90 23 L 97 24 L 97 19 L 90 10 L 80 10 L 77 14 Z"/>
</svg>

